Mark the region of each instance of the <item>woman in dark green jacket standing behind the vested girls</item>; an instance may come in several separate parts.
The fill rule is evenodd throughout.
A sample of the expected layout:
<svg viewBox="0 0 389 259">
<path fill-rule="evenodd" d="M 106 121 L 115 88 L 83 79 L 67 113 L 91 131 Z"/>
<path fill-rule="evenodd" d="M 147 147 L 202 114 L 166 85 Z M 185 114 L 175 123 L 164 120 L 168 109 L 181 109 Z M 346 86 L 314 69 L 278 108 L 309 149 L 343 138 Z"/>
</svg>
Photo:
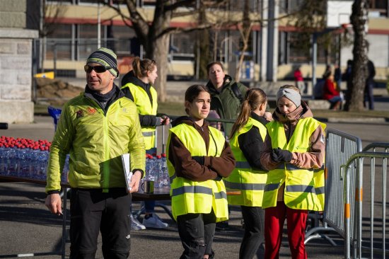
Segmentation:
<svg viewBox="0 0 389 259">
<path fill-rule="evenodd" d="M 248 88 L 233 81 L 231 76 L 224 73 L 221 62 L 211 62 L 207 65 L 207 88 L 211 93 L 211 110 L 215 110 L 221 119 L 236 120 L 240 105 Z M 232 123 L 226 123 L 223 131 L 226 136 L 231 132 Z"/>
</svg>

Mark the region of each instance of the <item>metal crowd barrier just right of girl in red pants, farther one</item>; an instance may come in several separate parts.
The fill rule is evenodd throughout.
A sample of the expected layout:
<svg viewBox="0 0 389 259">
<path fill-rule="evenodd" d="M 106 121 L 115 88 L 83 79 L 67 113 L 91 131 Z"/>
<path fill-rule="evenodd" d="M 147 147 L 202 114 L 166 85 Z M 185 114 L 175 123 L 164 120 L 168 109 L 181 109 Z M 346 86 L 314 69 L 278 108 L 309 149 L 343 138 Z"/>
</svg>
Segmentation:
<svg viewBox="0 0 389 259">
<path fill-rule="evenodd" d="M 346 163 L 350 156 L 361 151 L 362 144 L 359 137 L 340 132 L 335 129 L 328 129 L 325 146 L 325 207 L 323 212 L 323 226 L 313 227 L 306 232 L 304 243 L 313 239 L 323 238 L 332 246 L 337 246 L 326 233 L 337 232 L 344 237 L 344 181 L 340 175 L 339 168 Z M 353 163 L 350 167 L 350 175 L 354 178 L 359 165 Z M 316 219 L 319 220 L 319 219 Z M 325 232 L 325 233 L 323 233 Z"/>
</svg>

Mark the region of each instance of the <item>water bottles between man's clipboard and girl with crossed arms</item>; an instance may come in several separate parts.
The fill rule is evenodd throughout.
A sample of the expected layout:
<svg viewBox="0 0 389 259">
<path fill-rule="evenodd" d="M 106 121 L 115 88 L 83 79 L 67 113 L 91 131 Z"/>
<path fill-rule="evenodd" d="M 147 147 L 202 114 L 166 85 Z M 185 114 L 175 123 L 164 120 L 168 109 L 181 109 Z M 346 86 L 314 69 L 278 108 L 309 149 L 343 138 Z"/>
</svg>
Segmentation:
<svg viewBox="0 0 389 259">
<path fill-rule="evenodd" d="M 166 163 L 166 154 L 161 154 L 161 156 L 156 154 L 146 154 L 145 180 L 154 181 L 154 192 L 169 192 L 170 180 L 168 165 Z"/>
</svg>

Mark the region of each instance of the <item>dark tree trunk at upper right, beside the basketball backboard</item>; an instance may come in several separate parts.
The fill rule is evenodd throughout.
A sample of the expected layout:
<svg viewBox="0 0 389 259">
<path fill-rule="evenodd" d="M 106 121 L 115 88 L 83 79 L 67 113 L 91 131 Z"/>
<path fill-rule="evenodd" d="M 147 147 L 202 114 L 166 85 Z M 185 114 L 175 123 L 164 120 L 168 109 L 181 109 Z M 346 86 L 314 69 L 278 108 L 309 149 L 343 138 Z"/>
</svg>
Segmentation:
<svg viewBox="0 0 389 259">
<path fill-rule="evenodd" d="M 364 89 L 367 78 L 366 31 L 368 0 L 355 0 L 352 5 L 351 22 L 354 30 L 354 48 L 352 50 L 352 85 L 347 94 L 345 110 L 364 110 Z"/>
</svg>

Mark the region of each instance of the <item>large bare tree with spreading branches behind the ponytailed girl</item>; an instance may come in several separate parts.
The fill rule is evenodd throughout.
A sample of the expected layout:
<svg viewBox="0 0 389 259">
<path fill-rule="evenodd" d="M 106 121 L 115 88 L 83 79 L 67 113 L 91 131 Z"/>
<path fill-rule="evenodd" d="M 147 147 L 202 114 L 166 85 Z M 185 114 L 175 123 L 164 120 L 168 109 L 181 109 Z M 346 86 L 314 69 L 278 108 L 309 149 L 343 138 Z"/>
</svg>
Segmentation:
<svg viewBox="0 0 389 259">
<path fill-rule="evenodd" d="M 156 85 L 158 85 L 158 99 L 162 102 L 166 100 L 166 68 L 168 67 L 170 34 L 210 28 L 216 23 L 216 21 L 204 19 L 202 23 L 194 22 L 186 28 L 173 28 L 170 27 L 170 21 L 180 16 L 198 18 L 198 13 L 201 13 L 203 8 L 216 10 L 226 4 L 226 0 L 156 0 L 153 19 L 148 21 L 139 11 L 137 0 L 117 1 L 117 5 L 107 3 L 105 0 L 100 0 L 100 2 L 115 9 L 124 23 L 134 28 L 139 42 L 144 46 L 146 57 L 158 63 L 159 76 L 156 79 Z M 125 4 L 127 12 L 122 10 L 119 4 Z M 196 20 L 199 21 L 199 19 Z"/>
</svg>

